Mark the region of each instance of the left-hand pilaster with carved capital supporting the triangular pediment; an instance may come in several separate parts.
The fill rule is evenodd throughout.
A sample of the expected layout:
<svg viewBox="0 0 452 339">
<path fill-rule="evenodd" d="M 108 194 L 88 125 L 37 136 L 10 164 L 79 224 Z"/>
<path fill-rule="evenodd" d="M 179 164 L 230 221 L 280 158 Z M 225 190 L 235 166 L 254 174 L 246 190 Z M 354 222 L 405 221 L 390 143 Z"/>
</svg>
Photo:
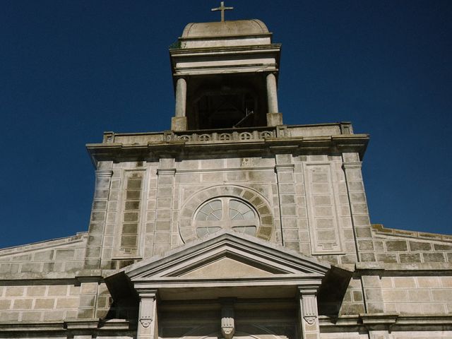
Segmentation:
<svg viewBox="0 0 452 339">
<path fill-rule="evenodd" d="M 140 296 L 137 339 L 155 339 L 157 331 L 157 290 L 136 289 Z"/>
</svg>

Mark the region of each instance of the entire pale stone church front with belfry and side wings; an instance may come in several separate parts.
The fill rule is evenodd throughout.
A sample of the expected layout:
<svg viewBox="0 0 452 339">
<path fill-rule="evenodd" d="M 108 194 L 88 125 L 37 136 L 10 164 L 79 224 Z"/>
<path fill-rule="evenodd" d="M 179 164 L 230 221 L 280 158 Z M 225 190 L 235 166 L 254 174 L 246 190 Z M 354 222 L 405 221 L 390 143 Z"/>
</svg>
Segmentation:
<svg viewBox="0 0 452 339">
<path fill-rule="evenodd" d="M 283 123 L 266 25 L 169 52 L 171 129 L 87 145 L 88 232 L 0 250 L 0 338 L 452 338 L 452 236 L 371 224 L 369 136 Z"/>
</svg>

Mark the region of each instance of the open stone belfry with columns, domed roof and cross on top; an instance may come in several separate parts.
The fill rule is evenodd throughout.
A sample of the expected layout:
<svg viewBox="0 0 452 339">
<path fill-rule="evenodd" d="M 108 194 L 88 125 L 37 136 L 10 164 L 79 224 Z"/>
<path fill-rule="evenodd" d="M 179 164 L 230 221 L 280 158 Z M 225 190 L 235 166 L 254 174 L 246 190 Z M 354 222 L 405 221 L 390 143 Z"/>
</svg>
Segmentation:
<svg viewBox="0 0 452 339">
<path fill-rule="evenodd" d="M 189 23 L 169 49 L 173 131 L 278 126 L 280 44 L 261 20 Z"/>
</svg>

